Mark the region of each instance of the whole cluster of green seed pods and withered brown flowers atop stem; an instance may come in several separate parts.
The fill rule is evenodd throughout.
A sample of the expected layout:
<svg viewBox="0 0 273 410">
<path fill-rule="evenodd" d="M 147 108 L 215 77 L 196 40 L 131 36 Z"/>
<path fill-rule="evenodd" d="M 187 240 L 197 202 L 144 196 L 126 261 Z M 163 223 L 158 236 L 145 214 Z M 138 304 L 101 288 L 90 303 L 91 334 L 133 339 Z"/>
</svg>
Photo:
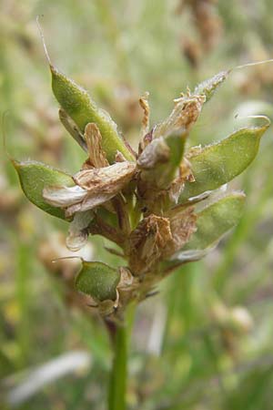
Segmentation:
<svg viewBox="0 0 273 410">
<path fill-rule="evenodd" d="M 256 157 L 268 121 L 241 128 L 214 145 L 186 149 L 203 105 L 228 72 L 175 100 L 170 115 L 149 126 L 147 95 L 138 154 L 115 122 L 86 91 L 50 63 L 52 87 L 66 130 L 87 153 L 71 176 L 59 169 L 13 161 L 26 197 L 70 222 L 66 245 L 77 251 L 89 234 L 116 243 L 126 266 L 82 261 L 76 289 L 93 299 L 109 320 L 120 320 L 129 302 L 139 302 L 169 272 L 207 254 L 238 223 L 245 196 L 223 192 Z M 35 181 L 35 184 L 33 183 Z"/>
</svg>

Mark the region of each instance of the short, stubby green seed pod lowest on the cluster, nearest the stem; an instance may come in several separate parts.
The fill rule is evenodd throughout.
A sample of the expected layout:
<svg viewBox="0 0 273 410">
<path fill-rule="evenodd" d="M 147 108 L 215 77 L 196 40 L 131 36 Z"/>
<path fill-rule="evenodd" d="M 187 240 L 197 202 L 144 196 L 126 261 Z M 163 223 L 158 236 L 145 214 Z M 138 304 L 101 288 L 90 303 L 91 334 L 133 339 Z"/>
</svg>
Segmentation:
<svg viewBox="0 0 273 410">
<path fill-rule="evenodd" d="M 76 276 L 76 289 L 92 296 L 100 302 L 116 300 L 116 286 L 120 273 L 99 261 L 83 261 L 82 269 Z"/>
</svg>

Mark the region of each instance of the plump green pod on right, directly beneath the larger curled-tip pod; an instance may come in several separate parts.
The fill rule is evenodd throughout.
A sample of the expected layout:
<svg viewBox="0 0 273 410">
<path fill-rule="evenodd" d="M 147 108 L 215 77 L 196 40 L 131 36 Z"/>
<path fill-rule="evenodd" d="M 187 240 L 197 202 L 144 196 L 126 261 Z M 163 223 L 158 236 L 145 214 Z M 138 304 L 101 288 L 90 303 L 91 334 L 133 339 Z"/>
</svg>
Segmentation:
<svg viewBox="0 0 273 410">
<path fill-rule="evenodd" d="M 197 231 L 181 250 L 205 250 L 238 224 L 244 204 L 242 192 L 232 192 L 197 212 Z"/>
</svg>

